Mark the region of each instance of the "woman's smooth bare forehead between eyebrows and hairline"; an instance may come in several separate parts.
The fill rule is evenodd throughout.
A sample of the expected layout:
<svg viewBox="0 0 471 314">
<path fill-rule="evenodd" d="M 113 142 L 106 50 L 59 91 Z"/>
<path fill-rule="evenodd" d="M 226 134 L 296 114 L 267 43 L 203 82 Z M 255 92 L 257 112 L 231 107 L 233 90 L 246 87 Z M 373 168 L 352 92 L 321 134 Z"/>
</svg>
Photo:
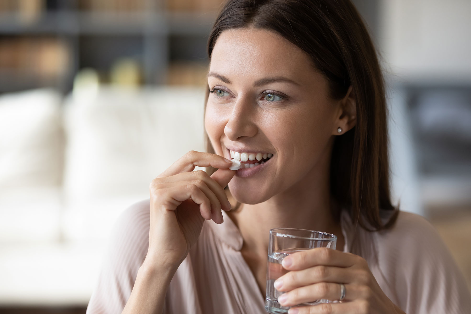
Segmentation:
<svg viewBox="0 0 471 314">
<path fill-rule="evenodd" d="M 219 35 L 211 54 L 210 71 L 238 75 L 284 75 L 300 78 L 314 72 L 307 53 L 276 32 L 229 29 Z"/>
</svg>

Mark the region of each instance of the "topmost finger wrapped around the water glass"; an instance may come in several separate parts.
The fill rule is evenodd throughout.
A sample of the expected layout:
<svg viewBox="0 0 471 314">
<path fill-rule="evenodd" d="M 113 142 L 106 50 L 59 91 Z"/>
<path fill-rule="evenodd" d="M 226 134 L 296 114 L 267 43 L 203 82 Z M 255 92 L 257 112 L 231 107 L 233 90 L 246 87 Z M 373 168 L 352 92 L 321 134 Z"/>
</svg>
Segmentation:
<svg viewBox="0 0 471 314">
<path fill-rule="evenodd" d="M 355 265 L 357 255 L 328 248 L 315 248 L 293 253 L 283 259 L 282 265 L 288 270 L 301 270 L 324 265 L 350 267 Z"/>
</svg>

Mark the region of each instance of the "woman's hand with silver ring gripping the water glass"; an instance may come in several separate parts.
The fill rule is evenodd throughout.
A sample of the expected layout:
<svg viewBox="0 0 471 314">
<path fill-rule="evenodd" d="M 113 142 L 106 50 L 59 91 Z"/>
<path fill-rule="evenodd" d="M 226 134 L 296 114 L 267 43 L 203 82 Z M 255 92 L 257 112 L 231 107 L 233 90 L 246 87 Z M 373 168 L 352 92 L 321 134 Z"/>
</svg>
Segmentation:
<svg viewBox="0 0 471 314">
<path fill-rule="evenodd" d="M 346 291 L 341 303 L 292 307 L 289 314 L 405 314 L 381 290 L 366 260 L 355 254 L 316 248 L 293 253 L 282 265 L 289 272 L 274 284 L 276 290 L 287 291 L 278 298 L 282 306 L 339 300 L 340 283 Z"/>
</svg>

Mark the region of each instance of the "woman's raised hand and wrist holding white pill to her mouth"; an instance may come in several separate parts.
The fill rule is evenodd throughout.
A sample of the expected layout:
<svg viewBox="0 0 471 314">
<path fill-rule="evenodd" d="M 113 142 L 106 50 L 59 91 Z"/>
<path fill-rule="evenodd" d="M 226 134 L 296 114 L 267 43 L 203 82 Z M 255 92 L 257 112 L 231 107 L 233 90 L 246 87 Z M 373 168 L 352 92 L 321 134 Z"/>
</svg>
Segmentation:
<svg viewBox="0 0 471 314">
<path fill-rule="evenodd" d="M 219 168 L 211 177 L 195 166 Z M 212 153 L 190 151 L 150 184 L 149 248 L 146 266 L 176 268 L 186 258 L 204 219 L 223 222 L 230 210 L 224 187 L 234 177 L 232 162 Z"/>
</svg>

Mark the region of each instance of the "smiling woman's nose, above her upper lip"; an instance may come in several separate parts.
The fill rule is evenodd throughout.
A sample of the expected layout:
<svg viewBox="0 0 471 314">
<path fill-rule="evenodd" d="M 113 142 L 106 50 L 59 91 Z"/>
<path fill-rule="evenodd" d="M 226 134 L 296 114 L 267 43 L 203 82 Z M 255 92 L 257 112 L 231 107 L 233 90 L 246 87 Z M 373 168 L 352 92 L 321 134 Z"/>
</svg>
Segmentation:
<svg viewBox="0 0 471 314">
<path fill-rule="evenodd" d="M 255 106 L 253 101 L 247 98 L 240 97 L 235 102 L 224 127 L 224 134 L 231 141 L 237 141 L 243 137 L 253 137 L 258 132 Z"/>
</svg>

